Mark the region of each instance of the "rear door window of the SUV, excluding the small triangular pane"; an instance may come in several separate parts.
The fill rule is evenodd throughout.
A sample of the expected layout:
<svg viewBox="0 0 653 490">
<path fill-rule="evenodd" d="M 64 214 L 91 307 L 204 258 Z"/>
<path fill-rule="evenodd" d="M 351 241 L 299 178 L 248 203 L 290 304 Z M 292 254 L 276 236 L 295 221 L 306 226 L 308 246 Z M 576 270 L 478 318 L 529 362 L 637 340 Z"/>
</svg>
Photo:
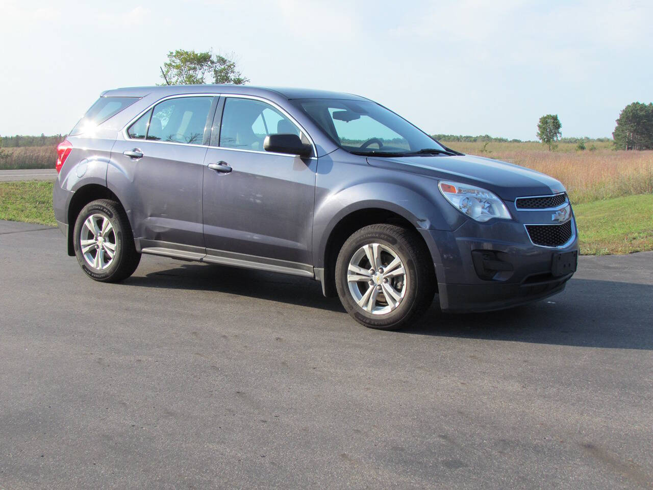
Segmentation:
<svg viewBox="0 0 653 490">
<path fill-rule="evenodd" d="M 212 97 L 178 97 L 154 106 L 148 140 L 202 144 Z"/>
</svg>

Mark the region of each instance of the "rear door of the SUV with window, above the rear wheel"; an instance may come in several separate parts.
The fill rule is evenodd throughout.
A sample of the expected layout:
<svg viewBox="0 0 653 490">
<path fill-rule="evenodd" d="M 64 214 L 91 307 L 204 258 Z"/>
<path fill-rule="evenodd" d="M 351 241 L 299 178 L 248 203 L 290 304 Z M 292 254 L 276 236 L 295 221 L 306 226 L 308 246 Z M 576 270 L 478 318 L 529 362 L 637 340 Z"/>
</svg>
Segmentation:
<svg viewBox="0 0 653 490">
<path fill-rule="evenodd" d="M 202 179 L 215 106 L 212 96 L 166 99 L 116 141 L 113 154 L 132 172 L 131 223 L 142 248 L 204 254 Z"/>
</svg>

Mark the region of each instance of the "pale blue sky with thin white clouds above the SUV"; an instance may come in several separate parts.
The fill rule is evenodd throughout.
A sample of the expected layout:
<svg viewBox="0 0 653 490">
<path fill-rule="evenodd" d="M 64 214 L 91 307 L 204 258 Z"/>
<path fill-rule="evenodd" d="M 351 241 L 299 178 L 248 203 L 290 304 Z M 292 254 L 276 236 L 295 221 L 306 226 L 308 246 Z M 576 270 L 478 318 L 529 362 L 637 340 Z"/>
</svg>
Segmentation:
<svg viewBox="0 0 653 490">
<path fill-rule="evenodd" d="M 171 50 L 251 81 L 364 95 L 430 134 L 611 137 L 653 101 L 653 1 L 0 0 L 0 135 L 71 130 L 99 94 L 161 83 Z"/>
</svg>

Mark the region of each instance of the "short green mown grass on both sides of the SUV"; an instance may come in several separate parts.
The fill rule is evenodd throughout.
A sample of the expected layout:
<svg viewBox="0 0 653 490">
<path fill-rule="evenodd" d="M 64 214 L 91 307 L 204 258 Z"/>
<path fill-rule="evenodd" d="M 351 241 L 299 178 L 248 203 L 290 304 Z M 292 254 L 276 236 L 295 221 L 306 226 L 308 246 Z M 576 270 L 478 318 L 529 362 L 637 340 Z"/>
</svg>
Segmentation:
<svg viewBox="0 0 653 490">
<path fill-rule="evenodd" d="M 653 195 L 575 204 L 581 253 L 653 250 Z M 0 220 L 56 226 L 52 182 L 0 182 Z"/>
</svg>

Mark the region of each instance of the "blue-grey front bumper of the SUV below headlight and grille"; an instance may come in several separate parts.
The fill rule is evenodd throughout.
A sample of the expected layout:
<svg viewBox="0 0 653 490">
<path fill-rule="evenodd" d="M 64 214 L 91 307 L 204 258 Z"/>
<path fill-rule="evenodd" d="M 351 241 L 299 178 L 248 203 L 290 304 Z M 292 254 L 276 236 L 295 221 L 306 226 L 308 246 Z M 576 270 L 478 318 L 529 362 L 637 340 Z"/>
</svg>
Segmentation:
<svg viewBox="0 0 653 490">
<path fill-rule="evenodd" d="M 455 231 L 422 229 L 438 277 L 440 307 L 447 312 L 500 310 L 537 301 L 562 291 L 573 276 L 554 276 L 552 261 L 560 252 L 577 252 L 578 239 L 572 217 L 573 239 L 564 247 L 534 245 L 523 223 L 468 220 Z M 475 251 L 489 252 L 509 265 L 481 278 L 474 264 Z M 479 252 L 475 252 L 479 253 Z"/>
</svg>

